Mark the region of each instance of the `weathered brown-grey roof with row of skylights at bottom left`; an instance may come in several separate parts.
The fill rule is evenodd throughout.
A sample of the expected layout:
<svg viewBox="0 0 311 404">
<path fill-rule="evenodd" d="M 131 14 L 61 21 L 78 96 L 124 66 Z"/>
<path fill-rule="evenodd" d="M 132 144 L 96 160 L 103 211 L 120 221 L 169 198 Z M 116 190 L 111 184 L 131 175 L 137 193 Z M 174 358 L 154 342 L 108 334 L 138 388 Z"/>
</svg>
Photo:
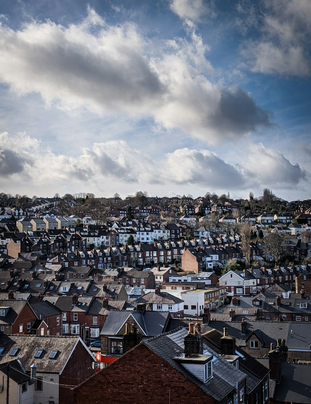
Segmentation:
<svg viewBox="0 0 311 404">
<path fill-rule="evenodd" d="M 0 335 L 0 346 L 5 348 L 1 355 L 1 361 L 9 362 L 12 359 L 9 356 L 11 350 L 19 348 L 16 358 L 21 361 L 27 371 L 30 371 L 30 366 L 35 362 L 39 373 L 60 373 L 79 340 L 80 337 Z M 39 358 L 34 358 L 38 349 L 42 349 L 43 352 Z M 50 359 L 49 356 L 53 350 L 57 350 L 58 353 L 54 359 Z"/>
</svg>

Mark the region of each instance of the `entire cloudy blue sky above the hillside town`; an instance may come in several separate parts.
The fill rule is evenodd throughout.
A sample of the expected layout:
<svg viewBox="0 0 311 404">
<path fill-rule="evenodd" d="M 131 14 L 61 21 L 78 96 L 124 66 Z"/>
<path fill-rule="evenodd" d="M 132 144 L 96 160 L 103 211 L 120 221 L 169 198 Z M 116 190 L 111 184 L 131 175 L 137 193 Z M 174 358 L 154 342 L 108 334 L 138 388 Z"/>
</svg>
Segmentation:
<svg viewBox="0 0 311 404">
<path fill-rule="evenodd" d="M 0 191 L 311 198 L 310 0 L 2 0 Z"/>
</svg>

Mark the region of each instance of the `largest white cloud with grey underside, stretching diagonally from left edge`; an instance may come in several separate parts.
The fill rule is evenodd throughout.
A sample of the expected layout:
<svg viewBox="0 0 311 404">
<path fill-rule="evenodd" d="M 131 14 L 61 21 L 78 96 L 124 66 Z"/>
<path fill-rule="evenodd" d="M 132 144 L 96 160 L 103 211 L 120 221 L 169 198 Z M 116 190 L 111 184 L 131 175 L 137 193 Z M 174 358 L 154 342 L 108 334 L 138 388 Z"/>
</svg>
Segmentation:
<svg viewBox="0 0 311 404">
<path fill-rule="evenodd" d="M 15 31 L 0 25 L 0 80 L 67 112 L 152 118 L 209 143 L 270 126 L 271 116 L 250 94 L 208 79 L 209 46 L 191 21 L 184 27 L 187 40 L 158 49 L 134 24 L 108 25 L 90 8 L 87 18 L 68 27 L 32 21 Z"/>
</svg>

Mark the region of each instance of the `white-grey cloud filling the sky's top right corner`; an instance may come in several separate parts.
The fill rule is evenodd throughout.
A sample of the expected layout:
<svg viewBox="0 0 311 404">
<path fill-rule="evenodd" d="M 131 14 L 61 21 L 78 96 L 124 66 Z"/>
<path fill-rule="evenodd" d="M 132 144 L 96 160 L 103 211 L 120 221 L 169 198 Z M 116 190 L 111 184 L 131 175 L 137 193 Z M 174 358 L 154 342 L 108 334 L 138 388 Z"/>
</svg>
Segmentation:
<svg viewBox="0 0 311 404">
<path fill-rule="evenodd" d="M 242 55 L 252 71 L 266 74 L 307 76 L 310 74 L 309 0 L 262 1 L 264 13 L 260 38 L 246 41 Z M 252 19 L 254 20 L 254 19 Z M 241 20 L 239 20 L 241 26 Z"/>
</svg>

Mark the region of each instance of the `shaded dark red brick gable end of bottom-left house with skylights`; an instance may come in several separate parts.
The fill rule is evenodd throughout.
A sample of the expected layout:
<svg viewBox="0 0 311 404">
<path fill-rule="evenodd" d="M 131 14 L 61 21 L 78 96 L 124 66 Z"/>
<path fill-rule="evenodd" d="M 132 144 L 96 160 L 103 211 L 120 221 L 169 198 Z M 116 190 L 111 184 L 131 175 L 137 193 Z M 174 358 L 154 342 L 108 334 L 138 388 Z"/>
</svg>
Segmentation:
<svg viewBox="0 0 311 404">
<path fill-rule="evenodd" d="M 59 404 L 73 403 L 73 391 L 66 387 L 61 387 L 61 385 L 77 386 L 91 377 L 94 374 L 92 362 L 95 362 L 95 358 L 92 359 L 82 343 L 78 342 L 65 369 L 59 376 Z"/>
</svg>

